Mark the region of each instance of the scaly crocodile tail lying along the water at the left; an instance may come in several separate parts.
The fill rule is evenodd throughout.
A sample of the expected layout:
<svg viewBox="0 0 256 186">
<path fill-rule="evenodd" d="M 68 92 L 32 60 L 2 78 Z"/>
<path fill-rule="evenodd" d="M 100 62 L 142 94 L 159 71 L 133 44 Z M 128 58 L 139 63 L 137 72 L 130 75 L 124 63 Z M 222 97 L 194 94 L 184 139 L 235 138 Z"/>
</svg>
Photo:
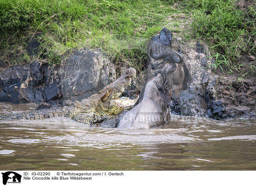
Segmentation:
<svg viewBox="0 0 256 186">
<path fill-rule="evenodd" d="M 13 113 L 0 116 L 0 119 L 46 119 L 58 116 L 69 117 L 70 113 L 74 110 L 73 107 L 58 107 L 50 109 L 42 109 L 36 111 L 22 112 L 22 113 Z"/>
</svg>

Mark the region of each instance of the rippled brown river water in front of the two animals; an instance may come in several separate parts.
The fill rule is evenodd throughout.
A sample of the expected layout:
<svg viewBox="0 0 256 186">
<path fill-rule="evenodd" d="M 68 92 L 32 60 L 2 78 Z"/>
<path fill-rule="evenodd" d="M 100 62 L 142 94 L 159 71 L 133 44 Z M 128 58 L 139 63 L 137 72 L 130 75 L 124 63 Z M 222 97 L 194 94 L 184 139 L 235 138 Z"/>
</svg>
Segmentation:
<svg viewBox="0 0 256 186">
<path fill-rule="evenodd" d="M 34 108 L 1 103 L 0 114 Z M 0 170 L 256 170 L 256 119 L 172 115 L 145 130 L 0 120 Z"/>
</svg>

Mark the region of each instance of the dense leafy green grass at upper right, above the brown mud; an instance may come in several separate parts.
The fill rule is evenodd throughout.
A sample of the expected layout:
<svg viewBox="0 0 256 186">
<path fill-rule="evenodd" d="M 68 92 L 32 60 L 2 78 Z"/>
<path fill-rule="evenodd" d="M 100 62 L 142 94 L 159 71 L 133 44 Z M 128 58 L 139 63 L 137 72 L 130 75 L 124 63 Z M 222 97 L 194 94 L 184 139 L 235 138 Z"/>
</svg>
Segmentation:
<svg viewBox="0 0 256 186">
<path fill-rule="evenodd" d="M 192 12 L 196 38 L 208 41 L 215 52 L 215 69 L 233 71 L 239 57 L 256 52 L 256 3 L 241 10 L 236 0 L 185 0 Z M 219 58 L 218 58 L 219 57 Z M 221 57 L 221 58 L 220 58 Z"/>
</svg>

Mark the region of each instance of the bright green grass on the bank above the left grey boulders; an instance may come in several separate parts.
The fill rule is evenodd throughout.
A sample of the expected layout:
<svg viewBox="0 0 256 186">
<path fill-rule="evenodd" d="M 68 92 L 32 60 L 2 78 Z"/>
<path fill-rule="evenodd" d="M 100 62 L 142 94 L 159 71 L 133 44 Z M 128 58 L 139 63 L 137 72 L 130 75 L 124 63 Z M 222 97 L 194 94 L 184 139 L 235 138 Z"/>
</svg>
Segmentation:
<svg viewBox="0 0 256 186">
<path fill-rule="evenodd" d="M 61 54 L 84 46 L 102 48 L 116 55 L 134 38 L 146 41 L 159 32 L 168 12 L 173 12 L 172 3 L 159 0 L 1 0 L 0 55 L 5 56 L 2 60 L 9 64 L 13 62 L 8 61 L 12 58 L 6 57 L 7 53 L 18 55 L 20 59 L 16 62 L 28 61 L 24 52 L 27 40 L 37 32 L 43 33 L 41 51 L 49 63 L 59 63 Z M 113 41 L 115 35 L 121 35 L 122 39 Z M 134 47 L 139 48 L 141 44 L 138 45 Z M 142 53 L 134 52 L 135 57 L 129 54 L 130 61 Z"/>
</svg>

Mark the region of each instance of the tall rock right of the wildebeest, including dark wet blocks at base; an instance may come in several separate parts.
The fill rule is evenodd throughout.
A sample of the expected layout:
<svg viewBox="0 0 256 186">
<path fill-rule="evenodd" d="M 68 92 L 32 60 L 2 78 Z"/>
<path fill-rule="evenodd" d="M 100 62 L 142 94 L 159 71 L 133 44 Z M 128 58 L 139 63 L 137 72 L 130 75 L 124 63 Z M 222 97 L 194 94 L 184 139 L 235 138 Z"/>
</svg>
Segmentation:
<svg viewBox="0 0 256 186">
<path fill-rule="evenodd" d="M 225 117 L 225 107 L 221 101 L 217 100 L 216 96 L 216 81 L 218 76 L 213 76 L 211 69 L 205 68 L 208 66 L 207 59 L 209 58 L 209 47 L 200 44 L 199 41 L 192 42 L 196 50 L 190 45 L 186 45 L 183 54 L 186 65 L 192 76 L 192 81 L 189 84 L 188 90 L 184 90 L 177 101 L 180 105 L 180 113 L 183 115 L 198 115 L 220 119 Z M 202 66 L 204 68 L 202 68 Z"/>
</svg>

